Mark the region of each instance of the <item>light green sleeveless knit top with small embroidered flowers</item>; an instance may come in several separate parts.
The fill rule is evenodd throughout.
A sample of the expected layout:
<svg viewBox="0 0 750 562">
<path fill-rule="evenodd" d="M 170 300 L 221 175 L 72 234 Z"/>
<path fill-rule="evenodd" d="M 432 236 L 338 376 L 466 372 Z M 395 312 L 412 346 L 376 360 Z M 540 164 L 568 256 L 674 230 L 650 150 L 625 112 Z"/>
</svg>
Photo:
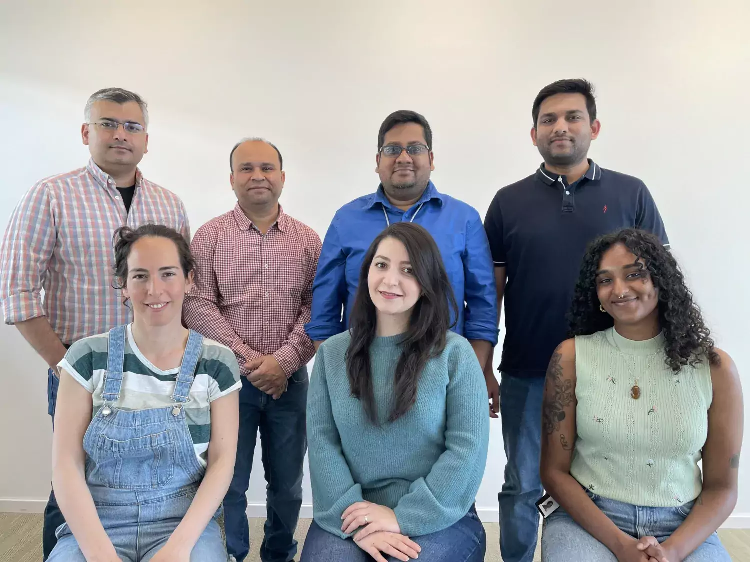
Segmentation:
<svg viewBox="0 0 750 562">
<path fill-rule="evenodd" d="M 713 398 L 709 361 L 675 373 L 663 334 L 637 342 L 610 328 L 576 337 L 575 367 L 573 477 L 628 504 L 674 507 L 697 498 Z"/>
</svg>

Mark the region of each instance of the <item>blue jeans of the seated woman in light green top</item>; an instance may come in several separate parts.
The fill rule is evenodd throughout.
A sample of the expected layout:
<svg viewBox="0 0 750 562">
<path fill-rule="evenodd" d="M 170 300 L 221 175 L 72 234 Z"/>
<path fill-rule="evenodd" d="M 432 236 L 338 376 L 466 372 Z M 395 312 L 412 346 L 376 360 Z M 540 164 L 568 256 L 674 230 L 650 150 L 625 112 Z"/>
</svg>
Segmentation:
<svg viewBox="0 0 750 562">
<path fill-rule="evenodd" d="M 659 543 L 667 540 L 682 525 L 693 508 L 694 501 L 677 507 L 643 507 L 622 501 L 602 498 L 586 490 L 596 506 L 615 525 L 635 538 L 651 535 Z M 604 543 L 600 543 L 586 529 L 574 522 L 562 507 L 547 519 L 541 533 L 541 560 L 543 562 L 617 562 Z M 683 562 L 731 562 L 731 558 L 718 534 L 714 533 L 695 549 Z"/>
</svg>

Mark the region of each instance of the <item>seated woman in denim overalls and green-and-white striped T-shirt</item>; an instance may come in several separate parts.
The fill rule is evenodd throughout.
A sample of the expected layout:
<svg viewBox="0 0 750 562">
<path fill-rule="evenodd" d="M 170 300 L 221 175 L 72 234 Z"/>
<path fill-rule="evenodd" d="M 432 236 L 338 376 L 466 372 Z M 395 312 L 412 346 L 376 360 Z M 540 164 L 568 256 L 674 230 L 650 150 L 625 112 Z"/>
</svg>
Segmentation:
<svg viewBox="0 0 750 562">
<path fill-rule="evenodd" d="M 145 225 L 136 231 L 124 227 L 115 242 L 115 274 L 132 301 L 134 321 L 130 328 L 110 331 L 104 347 L 107 370 L 93 396 L 82 378 L 93 380 L 95 354 L 83 356 L 91 357 L 94 365 L 89 373 L 80 367 L 86 365 L 81 356 L 72 367 L 74 348 L 61 363 L 77 369 L 78 377 L 61 369 L 52 480 L 67 522 L 58 528 L 49 561 L 226 561 L 216 519 L 233 475 L 239 418 L 234 390 L 239 387 L 225 377 L 220 397 L 211 401 L 209 392 L 210 441 L 204 468 L 196 449 L 208 438 L 191 435 L 195 422 L 185 411 L 191 400 L 205 399 L 190 394 L 196 366 L 205 359 L 203 337 L 181 324 L 182 300 L 193 280 L 190 249 L 166 226 Z M 97 337 L 98 345 L 104 345 L 102 336 L 81 342 Z M 132 338 L 131 348 L 136 343 L 138 357 L 157 372 L 180 365 L 173 386 L 171 377 L 127 375 L 127 388 L 142 385 L 136 393 L 130 390 L 130 399 L 137 394 L 145 408 L 124 406 L 128 398 L 123 372 L 133 369 L 123 364 L 127 337 Z M 233 356 L 231 360 L 236 363 Z M 229 366 L 239 381 L 239 366 Z M 226 365 L 222 368 L 226 372 Z M 163 389 L 165 384 L 173 390 L 149 396 L 149 387 Z M 214 381 L 211 385 L 215 390 Z M 149 407 L 154 403 L 163 407 Z M 189 409 L 194 411 L 194 405 Z"/>
</svg>

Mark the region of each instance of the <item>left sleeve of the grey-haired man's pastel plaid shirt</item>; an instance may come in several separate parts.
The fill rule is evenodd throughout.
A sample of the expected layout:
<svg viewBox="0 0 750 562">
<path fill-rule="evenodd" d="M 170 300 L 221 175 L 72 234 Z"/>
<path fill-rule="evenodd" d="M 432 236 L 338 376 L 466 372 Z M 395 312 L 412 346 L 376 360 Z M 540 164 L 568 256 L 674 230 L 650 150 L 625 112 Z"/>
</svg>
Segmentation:
<svg viewBox="0 0 750 562">
<path fill-rule="evenodd" d="M 49 187 L 40 182 L 10 216 L 0 250 L 0 303 L 6 324 L 45 315 L 41 291 L 57 226 Z"/>
</svg>

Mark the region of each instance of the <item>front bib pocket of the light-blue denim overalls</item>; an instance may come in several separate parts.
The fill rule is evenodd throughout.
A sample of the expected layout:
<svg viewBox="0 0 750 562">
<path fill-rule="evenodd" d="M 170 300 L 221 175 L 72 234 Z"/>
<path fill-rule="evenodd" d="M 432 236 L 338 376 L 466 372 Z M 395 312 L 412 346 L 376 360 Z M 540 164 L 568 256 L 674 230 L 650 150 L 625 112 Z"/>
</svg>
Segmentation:
<svg viewBox="0 0 750 562">
<path fill-rule="evenodd" d="M 124 440 L 101 434 L 92 453 L 90 483 L 116 489 L 153 490 L 172 480 L 177 444 L 170 429 Z"/>
</svg>

